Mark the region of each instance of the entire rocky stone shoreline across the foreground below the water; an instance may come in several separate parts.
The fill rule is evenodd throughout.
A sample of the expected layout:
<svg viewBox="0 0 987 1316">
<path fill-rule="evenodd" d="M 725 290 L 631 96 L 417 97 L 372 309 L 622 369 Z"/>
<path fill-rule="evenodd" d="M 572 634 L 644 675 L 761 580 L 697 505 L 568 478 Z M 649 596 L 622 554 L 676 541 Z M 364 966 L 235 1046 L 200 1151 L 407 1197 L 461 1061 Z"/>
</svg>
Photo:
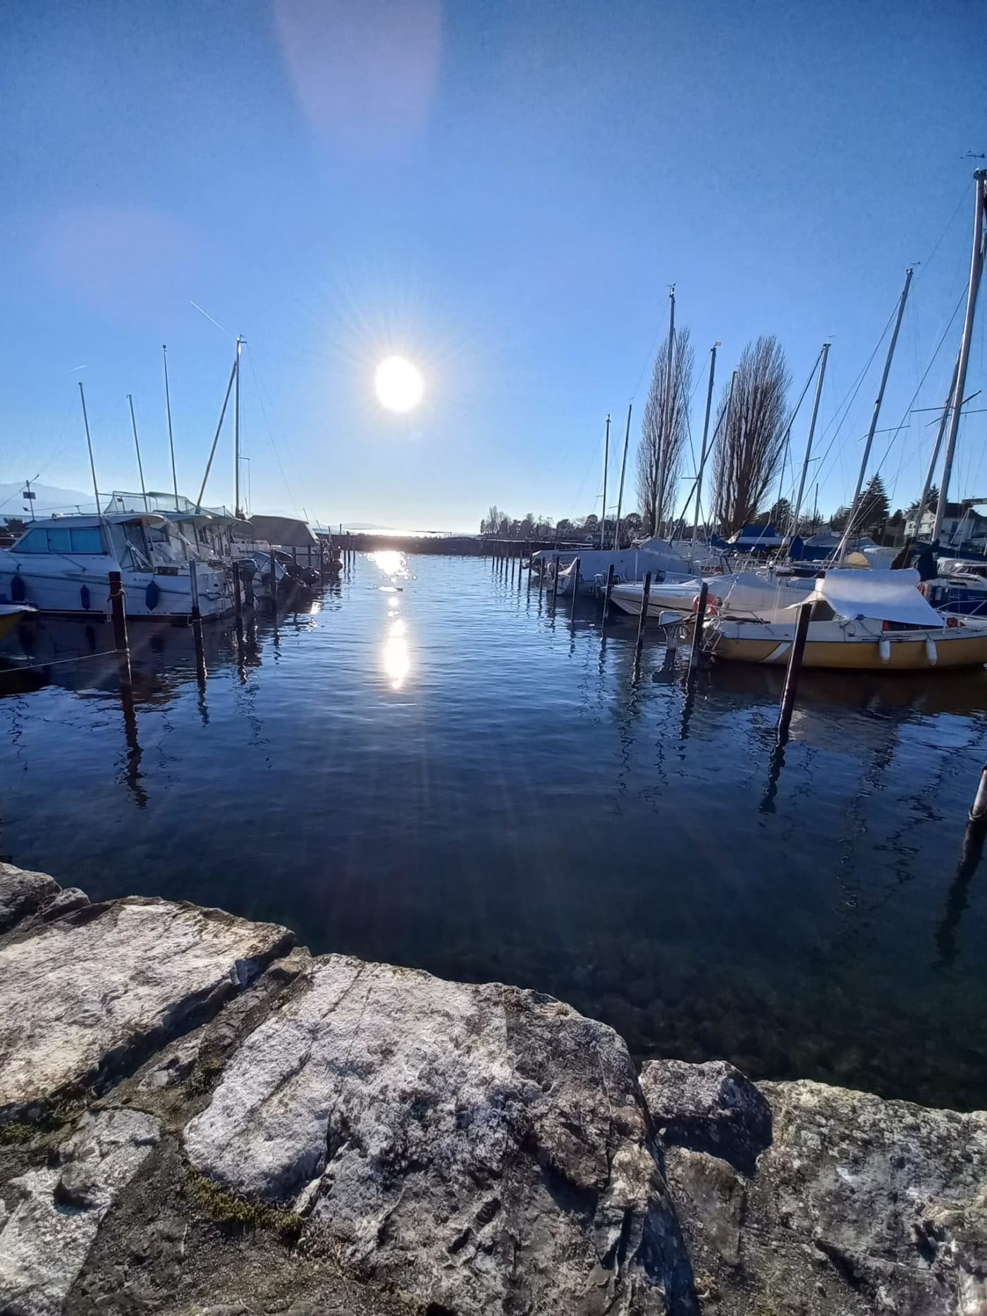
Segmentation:
<svg viewBox="0 0 987 1316">
<path fill-rule="evenodd" d="M 987 1316 L 987 1115 L 0 865 L 0 1312 Z"/>
</svg>

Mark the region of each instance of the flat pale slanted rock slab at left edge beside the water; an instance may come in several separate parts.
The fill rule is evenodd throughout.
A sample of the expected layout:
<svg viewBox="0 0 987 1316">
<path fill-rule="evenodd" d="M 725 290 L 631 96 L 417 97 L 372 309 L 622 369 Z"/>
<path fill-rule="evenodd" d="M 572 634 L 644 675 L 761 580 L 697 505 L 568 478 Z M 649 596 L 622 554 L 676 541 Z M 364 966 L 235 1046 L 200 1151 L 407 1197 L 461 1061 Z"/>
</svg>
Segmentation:
<svg viewBox="0 0 987 1316">
<path fill-rule="evenodd" d="M 87 905 L 0 948 L 0 1120 L 100 1086 L 195 1026 L 292 941 L 167 900 Z"/>
</svg>

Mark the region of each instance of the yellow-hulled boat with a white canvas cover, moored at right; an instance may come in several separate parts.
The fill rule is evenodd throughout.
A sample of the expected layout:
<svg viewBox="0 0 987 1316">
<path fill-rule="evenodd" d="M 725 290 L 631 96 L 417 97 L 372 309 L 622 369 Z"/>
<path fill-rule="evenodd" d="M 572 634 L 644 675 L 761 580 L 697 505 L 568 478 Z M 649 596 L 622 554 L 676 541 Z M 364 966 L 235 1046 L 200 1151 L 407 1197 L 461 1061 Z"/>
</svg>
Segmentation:
<svg viewBox="0 0 987 1316">
<path fill-rule="evenodd" d="M 919 592 L 919 572 L 828 571 L 812 605 L 804 667 L 929 671 L 987 663 L 987 629 L 941 617 Z M 799 604 L 757 616 L 726 607 L 704 628 L 704 649 L 725 662 L 788 662 Z"/>
</svg>

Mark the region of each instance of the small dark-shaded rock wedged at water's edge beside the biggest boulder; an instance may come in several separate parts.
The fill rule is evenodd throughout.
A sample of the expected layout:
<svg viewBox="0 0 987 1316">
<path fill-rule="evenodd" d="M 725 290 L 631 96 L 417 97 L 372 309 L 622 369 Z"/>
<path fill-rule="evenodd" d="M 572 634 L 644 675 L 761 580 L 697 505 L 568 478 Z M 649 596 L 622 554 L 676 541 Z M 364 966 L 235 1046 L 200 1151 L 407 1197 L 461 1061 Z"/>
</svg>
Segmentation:
<svg viewBox="0 0 987 1316">
<path fill-rule="evenodd" d="M 745 1174 L 771 1144 L 770 1105 L 725 1061 L 650 1061 L 641 1091 L 666 1144 L 708 1152 Z"/>
</svg>

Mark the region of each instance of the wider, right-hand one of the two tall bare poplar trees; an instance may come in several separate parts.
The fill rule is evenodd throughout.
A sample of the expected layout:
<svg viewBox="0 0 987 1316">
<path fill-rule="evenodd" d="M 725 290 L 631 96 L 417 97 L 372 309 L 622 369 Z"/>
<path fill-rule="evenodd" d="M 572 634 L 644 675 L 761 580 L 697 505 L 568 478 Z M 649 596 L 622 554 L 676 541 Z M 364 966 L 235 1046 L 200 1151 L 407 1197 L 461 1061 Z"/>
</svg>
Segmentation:
<svg viewBox="0 0 987 1316">
<path fill-rule="evenodd" d="M 757 516 L 784 453 L 791 375 L 774 334 L 744 349 L 733 384 L 730 413 L 724 420 L 729 384 L 720 393 L 713 480 L 716 520 L 725 533 Z"/>
</svg>

